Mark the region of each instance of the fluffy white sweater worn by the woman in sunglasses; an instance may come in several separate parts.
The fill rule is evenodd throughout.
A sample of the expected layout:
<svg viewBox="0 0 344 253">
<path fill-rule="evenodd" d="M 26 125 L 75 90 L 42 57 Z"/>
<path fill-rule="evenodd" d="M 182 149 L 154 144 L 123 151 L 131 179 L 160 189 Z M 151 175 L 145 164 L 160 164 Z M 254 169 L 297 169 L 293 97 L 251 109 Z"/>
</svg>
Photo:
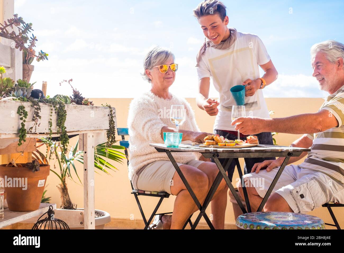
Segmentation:
<svg viewBox="0 0 344 253">
<path fill-rule="evenodd" d="M 180 130 L 200 131 L 196 124 L 194 112 L 190 104 L 184 99 L 172 94 L 172 99 L 164 99 L 152 92 L 146 92 L 141 97 L 134 98 L 129 106 L 128 128 L 129 128 L 129 179 L 131 180 L 135 171 L 154 161 L 169 161 L 166 153 L 159 153 L 150 143 L 164 143 L 161 138 L 161 128 L 164 126 L 174 127 L 169 118 L 171 105 L 184 105 L 186 119 Z M 191 143 L 183 141 L 182 143 Z M 176 162 L 186 164 L 191 160 L 198 160 L 200 153 L 175 152 L 172 153 Z"/>
</svg>

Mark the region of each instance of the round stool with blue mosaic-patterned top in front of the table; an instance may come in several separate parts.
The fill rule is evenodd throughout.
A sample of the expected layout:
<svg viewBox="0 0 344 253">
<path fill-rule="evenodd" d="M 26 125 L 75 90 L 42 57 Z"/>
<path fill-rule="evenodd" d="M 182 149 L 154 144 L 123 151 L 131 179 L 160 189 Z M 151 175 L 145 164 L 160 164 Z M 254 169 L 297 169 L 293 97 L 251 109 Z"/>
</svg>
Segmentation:
<svg viewBox="0 0 344 253">
<path fill-rule="evenodd" d="M 288 212 L 245 213 L 238 217 L 236 225 L 242 229 L 325 229 L 318 217 Z"/>
</svg>

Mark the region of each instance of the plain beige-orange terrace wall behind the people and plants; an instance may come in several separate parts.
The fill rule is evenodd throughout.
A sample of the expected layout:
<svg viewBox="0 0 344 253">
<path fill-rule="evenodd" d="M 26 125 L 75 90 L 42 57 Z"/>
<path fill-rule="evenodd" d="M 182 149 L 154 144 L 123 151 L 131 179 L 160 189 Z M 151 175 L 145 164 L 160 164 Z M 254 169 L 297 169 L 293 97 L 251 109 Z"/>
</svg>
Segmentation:
<svg viewBox="0 0 344 253">
<path fill-rule="evenodd" d="M 95 98 L 91 99 L 95 105 L 102 103 L 109 103 L 116 108 L 117 112 L 117 125 L 118 127 L 127 126 L 127 114 L 128 107 L 131 98 Z M 197 124 L 200 126 L 202 131 L 212 132 L 214 117 L 208 116 L 204 111 L 197 108 L 195 99 L 188 98 L 192 108 L 195 110 L 195 116 Z M 323 99 L 321 98 L 267 98 L 266 99 L 268 109 L 274 110 L 275 114 L 272 117 L 285 117 L 294 114 L 301 113 L 312 113 L 317 112 Z M 298 138 L 300 135 L 290 134 L 278 134 L 276 136 L 277 144 L 279 145 L 290 145 L 293 140 Z M 118 139 L 120 139 L 118 137 Z M 74 145 L 76 138 L 72 139 L 71 144 Z M 116 165 L 118 171 L 111 172 L 111 176 L 105 175 L 103 172 L 95 175 L 95 203 L 96 209 L 105 210 L 110 213 L 112 218 L 126 218 L 131 217 L 140 219 L 140 212 L 137 207 L 135 198 L 130 194 L 131 187 L 128 180 L 128 169 L 126 163 L 124 165 Z M 77 165 L 79 176 L 83 180 L 83 171 L 81 165 Z M 56 170 L 57 171 L 57 170 Z M 74 174 L 73 174 L 74 175 Z M 73 177 L 74 180 L 77 179 Z M 234 179 L 238 178 L 238 173 L 234 174 Z M 234 181 L 235 182 L 235 181 Z M 52 203 L 57 203 L 57 206 L 61 204 L 60 195 L 56 189 L 58 180 L 56 175 L 52 174 L 47 180 L 47 196 L 52 197 Z M 71 195 L 72 201 L 78 204 L 78 207 L 83 207 L 83 187 L 69 180 L 68 183 L 69 194 Z M 170 196 L 169 199 L 163 201 L 160 212 L 170 212 L 173 209 L 174 196 Z M 151 212 L 153 207 L 157 203 L 157 199 L 151 197 L 141 197 L 143 210 Z M 340 217 L 339 222 L 343 225 L 344 217 L 340 215 L 340 210 L 334 210 L 337 217 Z M 209 215 L 211 210 L 207 210 Z M 311 212 L 324 219 L 325 222 L 330 222 L 331 217 L 325 208 L 318 208 Z M 133 216 L 132 216 L 133 215 Z M 228 200 L 226 210 L 226 223 L 234 223 L 233 208 Z"/>
</svg>

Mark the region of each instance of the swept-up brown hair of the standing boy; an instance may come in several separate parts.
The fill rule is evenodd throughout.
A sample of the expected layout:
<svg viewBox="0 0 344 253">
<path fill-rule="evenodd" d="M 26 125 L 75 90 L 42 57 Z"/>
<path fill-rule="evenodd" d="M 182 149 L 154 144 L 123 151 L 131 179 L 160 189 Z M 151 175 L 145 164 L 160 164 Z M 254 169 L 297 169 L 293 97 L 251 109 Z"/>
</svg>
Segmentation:
<svg viewBox="0 0 344 253">
<path fill-rule="evenodd" d="M 205 15 L 218 14 L 222 21 L 226 17 L 226 6 L 223 2 L 218 0 L 205 0 L 198 4 L 197 8 L 193 10 L 193 15 L 199 19 Z"/>
</svg>

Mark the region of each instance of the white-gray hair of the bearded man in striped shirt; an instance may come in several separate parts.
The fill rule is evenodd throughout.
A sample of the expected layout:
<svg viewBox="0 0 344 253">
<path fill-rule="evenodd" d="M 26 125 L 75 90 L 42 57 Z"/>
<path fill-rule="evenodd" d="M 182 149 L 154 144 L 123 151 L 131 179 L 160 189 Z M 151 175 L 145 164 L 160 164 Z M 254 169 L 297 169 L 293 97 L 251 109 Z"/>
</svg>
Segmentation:
<svg viewBox="0 0 344 253">
<path fill-rule="evenodd" d="M 325 53 L 327 60 L 331 63 L 335 63 L 338 58 L 342 58 L 344 61 L 344 44 L 338 41 L 326 40 L 314 44 L 311 47 L 311 59 L 313 59 L 318 52 Z"/>
</svg>

